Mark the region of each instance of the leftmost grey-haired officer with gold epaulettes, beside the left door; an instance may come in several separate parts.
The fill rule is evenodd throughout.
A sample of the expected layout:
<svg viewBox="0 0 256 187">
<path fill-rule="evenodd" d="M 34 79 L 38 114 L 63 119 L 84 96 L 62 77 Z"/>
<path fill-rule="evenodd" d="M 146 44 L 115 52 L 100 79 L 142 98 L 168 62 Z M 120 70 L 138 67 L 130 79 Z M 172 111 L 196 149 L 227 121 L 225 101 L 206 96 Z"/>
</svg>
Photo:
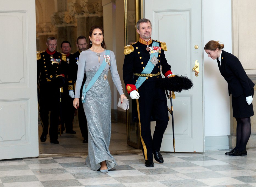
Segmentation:
<svg viewBox="0 0 256 187">
<path fill-rule="evenodd" d="M 49 37 L 46 51 L 37 51 L 37 81 L 39 90 L 39 114 L 43 133 L 40 137 L 42 142 L 46 141 L 48 134 L 48 114 L 50 115 L 50 142 L 59 143 L 58 126 L 60 113 L 60 86 L 64 84 L 65 68 L 63 61 L 66 55 L 55 51 L 57 39 Z"/>
</svg>

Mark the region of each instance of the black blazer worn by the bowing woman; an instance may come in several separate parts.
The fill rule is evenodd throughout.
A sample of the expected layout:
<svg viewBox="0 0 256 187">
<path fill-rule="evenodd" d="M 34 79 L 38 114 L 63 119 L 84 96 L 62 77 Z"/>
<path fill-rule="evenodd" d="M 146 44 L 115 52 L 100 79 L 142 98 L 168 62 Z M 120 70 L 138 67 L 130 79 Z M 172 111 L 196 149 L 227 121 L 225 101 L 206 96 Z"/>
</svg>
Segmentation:
<svg viewBox="0 0 256 187">
<path fill-rule="evenodd" d="M 242 64 L 236 56 L 222 50 L 221 66 L 219 59 L 217 59 L 219 71 L 228 83 L 229 95 L 238 97 L 244 94 L 245 97 L 252 95 L 252 88 L 254 83 L 246 75 Z"/>
</svg>

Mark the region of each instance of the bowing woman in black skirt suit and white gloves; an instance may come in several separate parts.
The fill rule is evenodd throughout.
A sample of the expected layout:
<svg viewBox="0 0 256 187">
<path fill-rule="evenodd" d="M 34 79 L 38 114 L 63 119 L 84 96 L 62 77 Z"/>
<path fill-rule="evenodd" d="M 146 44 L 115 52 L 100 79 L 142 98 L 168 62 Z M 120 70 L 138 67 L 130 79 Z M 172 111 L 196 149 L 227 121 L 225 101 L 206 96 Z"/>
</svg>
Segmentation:
<svg viewBox="0 0 256 187">
<path fill-rule="evenodd" d="M 209 41 L 204 50 L 208 57 L 217 59 L 219 71 L 228 83 L 229 95 L 232 95 L 233 117 L 236 118 L 236 146 L 225 155 L 247 155 L 246 144 L 251 135 L 251 116 L 254 115 L 252 100 L 254 83 L 246 75 L 236 56 L 224 50 L 224 44 Z"/>
</svg>

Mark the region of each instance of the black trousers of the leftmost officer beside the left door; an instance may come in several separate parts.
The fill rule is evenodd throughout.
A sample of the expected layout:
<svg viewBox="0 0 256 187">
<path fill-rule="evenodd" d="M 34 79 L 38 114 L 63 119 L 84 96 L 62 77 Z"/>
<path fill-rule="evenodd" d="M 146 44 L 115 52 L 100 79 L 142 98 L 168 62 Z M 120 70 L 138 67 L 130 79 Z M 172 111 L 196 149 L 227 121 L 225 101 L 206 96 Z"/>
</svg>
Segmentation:
<svg viewBox="0 0 256 187">
<path fill-rule="evenodd" d="M 50 114 L 50 128 L 49 135 L 50 140 L 58 140 L 58 127 L 60 124 L 59 114 L 60 114 L 60 91 L 51 82 L 40 83 L 39 85 L 39 115 L 41 120 L 41 125 L 43 127 L 43 134 L 48 134 L 49 127 L 49 111 Z"/>
</svg>

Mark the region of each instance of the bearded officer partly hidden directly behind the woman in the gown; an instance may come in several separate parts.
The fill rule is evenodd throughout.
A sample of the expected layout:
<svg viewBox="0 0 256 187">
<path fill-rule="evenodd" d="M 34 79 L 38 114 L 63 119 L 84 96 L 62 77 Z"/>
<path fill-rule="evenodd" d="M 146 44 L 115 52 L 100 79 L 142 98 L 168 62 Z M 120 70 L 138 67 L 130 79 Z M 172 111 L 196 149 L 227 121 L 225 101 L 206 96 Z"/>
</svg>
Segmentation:
<svg viewBox="0 0 256 187">
<path fill-rule="evenodd" d="M 87 40 L 86 40 L 85 36 L 79 36 L 77 38 L 76 46 L 78 47 L 79 50 L 76 53 L 74 53 L 73 55 L 71 55 L 71 57 L 69 59 L 70 71 L 69 71 L 69 75 L 68 75 L 68 90 L 69 90 L 68 94 L 71 98 L 75 97 L 74 89 L 75 89 L 75 85 L 76 85 L 79 55 L 82 51 L 85 51 L 86 48 L 87 48 Z M 84 86 L 85 80 L 86 80 L 86 75 L 84 74 L 84 79 L 83 79 L 82 86 Z M 82 88 L 81 88 L 81 91 L 80 91 L 79 102 L 82 102 L 81 97 L 82 97 Z M 73 106 L 73 102 L 72 102 L 72 106 Z M 83 143 L 88 143 L 87 120 L 86 120 L 86 117 L 85 117 L 85 112 L 84 112 L 83 106 L 78 107 L 77 111 L 78 111 L 79 127 L 80 127 L 80 130 L 81 130 L 81 133 L 82 133 L 82 137 L 84 138 Z M 72 112 L 73 119 L 74 119 L 74 112 L 75 112 L 75 108 L 73 107 L 73 112 Z"/>
</svg>

